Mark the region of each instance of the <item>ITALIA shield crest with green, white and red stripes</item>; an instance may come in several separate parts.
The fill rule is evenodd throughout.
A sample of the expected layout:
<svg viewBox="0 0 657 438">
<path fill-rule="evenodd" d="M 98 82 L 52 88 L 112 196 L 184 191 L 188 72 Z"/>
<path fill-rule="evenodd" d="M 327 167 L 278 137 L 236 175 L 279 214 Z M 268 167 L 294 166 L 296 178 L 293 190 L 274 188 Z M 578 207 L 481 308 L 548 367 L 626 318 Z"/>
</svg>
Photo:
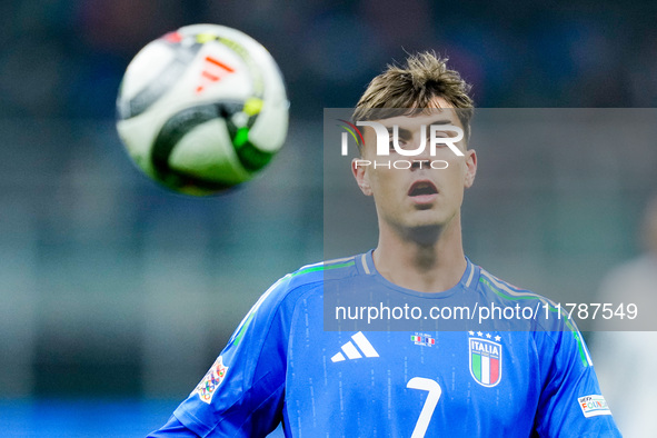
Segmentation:
<svg viewBox="0 0 657 438">
<path fill-rule="evenodd" d="M 492 388 L 501 380 L 501 344 L 485 339 L 485 336 L 491 338 L 490 334 L 484 335 L 478 331 L 477 337 L 474 335 L 475 332 L 470 331 L 471 337 L 468 338 L 470 375 L 477 384 Z M 499 341 L 500 337 L 496 336 L 495 340 Z"/>
</svg>

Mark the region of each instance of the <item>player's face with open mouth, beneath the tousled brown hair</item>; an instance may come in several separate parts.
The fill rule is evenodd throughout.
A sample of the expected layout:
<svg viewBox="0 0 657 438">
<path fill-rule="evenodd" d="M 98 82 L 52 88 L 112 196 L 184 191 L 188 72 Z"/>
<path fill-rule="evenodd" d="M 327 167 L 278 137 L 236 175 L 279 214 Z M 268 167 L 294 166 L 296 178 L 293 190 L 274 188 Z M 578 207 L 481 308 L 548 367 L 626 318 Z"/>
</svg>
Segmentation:
<svg viewBox="0 0 657 438">
<path fill-rule="evenodd" d="M 430 155 L 431 125 L 452 125 L 462 129 L 456 111 L 445 99 L 436 98 L 434 103 L 436 108 L 430 113 L 377 120 L 388 127 L 390 132 L 394 126 L 398 126 L 398 145 L 407 149 L 418 148 L 425 130 L 426 147 L 418 156 L 402 156 L 392 146 L 389 156 L 377 156 L 374 129 L 366 127 L 364 130 L 361 159 L 371 165 L 362 166 L 361 161 L 359 166 L 354 160 L 352 171 L 361 191 L 374 196 L 379 222 L 399 229 L 444 227 L 460 222 L 464 190 L 475 180 L 477 156 L 474 150 L 467 149 L 465 140 L 456 143 L 462 157 L 446 145 L 438 145 L 435 155 Z M 456 132 L 444 131 L 439 136 L 455 137 Z M 411 163 L 408 169 L 395 168 L 406 168 L 408 162 Z"/>
</svg>

